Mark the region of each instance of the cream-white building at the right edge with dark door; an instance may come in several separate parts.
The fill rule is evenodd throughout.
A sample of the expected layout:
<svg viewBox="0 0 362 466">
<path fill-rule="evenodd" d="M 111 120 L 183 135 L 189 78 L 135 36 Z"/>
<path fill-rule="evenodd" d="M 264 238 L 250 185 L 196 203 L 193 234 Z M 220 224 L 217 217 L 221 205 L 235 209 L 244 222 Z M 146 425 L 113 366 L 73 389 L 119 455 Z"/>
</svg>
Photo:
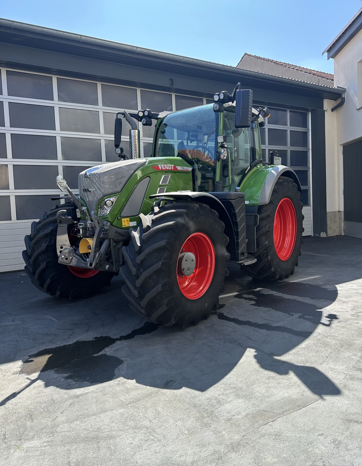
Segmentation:
<svg viewBox="0 0 362 466">
<path fill-rule="evenodd" d="M 334 59 L 339 106 L 326 101 L 328 230 L 362 238 L 362 8 L 323 53 Z"/>
</svg>

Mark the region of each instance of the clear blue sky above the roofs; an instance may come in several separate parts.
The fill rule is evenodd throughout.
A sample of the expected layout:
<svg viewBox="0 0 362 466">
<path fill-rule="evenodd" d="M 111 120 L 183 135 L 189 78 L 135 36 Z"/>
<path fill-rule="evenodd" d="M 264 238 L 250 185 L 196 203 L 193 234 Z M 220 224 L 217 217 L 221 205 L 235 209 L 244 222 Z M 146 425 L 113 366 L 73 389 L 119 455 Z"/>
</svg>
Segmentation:
<svg viewBox="0 0 362 466">
<path fill-rule="evenodd" d="M 244 52 L 333 73 L 361 0 L 16 0 L 0 17 L 236 66 Z"/>
</svg>

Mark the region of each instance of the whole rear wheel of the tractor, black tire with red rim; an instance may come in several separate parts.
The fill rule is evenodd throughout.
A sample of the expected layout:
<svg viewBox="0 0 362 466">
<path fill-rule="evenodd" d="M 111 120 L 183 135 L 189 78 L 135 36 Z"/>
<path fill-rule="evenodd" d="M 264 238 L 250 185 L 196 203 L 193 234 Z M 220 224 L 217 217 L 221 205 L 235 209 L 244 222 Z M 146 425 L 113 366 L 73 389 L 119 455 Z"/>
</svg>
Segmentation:
<svg viewBox="0 0 362 466">
<path fill-rule="evenodd" d="M 274 227 L 280 221 L 276 221 L 277 217 L 282 215 L 281 207 L 286 207 L 286 211 L 295 212 L 296 224 L 289 222 L 288 215 L 284 215 L 284 221 L 288 228 L 284 229 L 284 234 L 278 236 L 274 234 Z M 278 209 L 279 207 L 279 209 Z M 280 177 L 276 181 L 269 204 L 259 206 L 259 225 L 256 231 L 257 252 L 253 254 L 257 258 L 257 262 L 248 266 L 241 266 L 242 271 L 250 275 L 250 277 L 259 280 L 284 280 L 294 274 L 294 268 L 298 265 L 298 257 L 301 255 L 302 233 L 303 229 L 303 204 L 300 200 L 300 192 L 298 186 L 292 179 Z M 290 224 L 291 223 L 291 224 Z M 294 231 L 294 237 L 288 232 Z M 285 234 L 286 233 L 286 234 Z M 278 236 L 278 240 L 276 237 Z M 294 242 L 291 244 L 291 241 Z M 283 244 L 284 243 L 284 244 Z M 282 258 L 282 259 L 281 259 Z"/>
</svg>

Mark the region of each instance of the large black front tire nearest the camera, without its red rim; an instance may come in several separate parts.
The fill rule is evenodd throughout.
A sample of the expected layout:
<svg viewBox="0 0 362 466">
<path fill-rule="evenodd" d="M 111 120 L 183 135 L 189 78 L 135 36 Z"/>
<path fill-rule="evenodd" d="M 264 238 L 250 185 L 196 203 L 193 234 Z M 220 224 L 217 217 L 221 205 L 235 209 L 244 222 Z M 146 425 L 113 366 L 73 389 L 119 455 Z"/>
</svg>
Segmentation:
<svg viewBox="0 0 362 466">
<path fill-rule="evenodd" d="M 218 306 L 218 296 L 229 274 L 226 262 L 228 237 L 217 212 L 196 202 L 173 203 L 140 215 L 137 229 L 123 249 L 125 264 L 120 274 L 122 288 L 131 308 L 159 325 L 185 328 L 208 318 Z M 188 299 L 178 286 L 177 263 L 180 250 L 192 233 L 204 233 L 215 252 L 215 270 L 204 295 Z"/>
</svg>

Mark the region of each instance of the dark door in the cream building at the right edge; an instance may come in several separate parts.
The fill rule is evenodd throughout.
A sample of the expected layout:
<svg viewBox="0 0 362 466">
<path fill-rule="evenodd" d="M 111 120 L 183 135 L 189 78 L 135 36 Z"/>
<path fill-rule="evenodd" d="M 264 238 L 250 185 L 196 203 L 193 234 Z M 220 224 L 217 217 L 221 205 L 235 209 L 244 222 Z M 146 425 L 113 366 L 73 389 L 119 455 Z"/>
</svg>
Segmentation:
<svg viewBox="0 0 362 466">
<path fill-rule="evenodd" d="M 343 146 L 345 234 L 362 238 L 362 139 Z"/>
</svg>

